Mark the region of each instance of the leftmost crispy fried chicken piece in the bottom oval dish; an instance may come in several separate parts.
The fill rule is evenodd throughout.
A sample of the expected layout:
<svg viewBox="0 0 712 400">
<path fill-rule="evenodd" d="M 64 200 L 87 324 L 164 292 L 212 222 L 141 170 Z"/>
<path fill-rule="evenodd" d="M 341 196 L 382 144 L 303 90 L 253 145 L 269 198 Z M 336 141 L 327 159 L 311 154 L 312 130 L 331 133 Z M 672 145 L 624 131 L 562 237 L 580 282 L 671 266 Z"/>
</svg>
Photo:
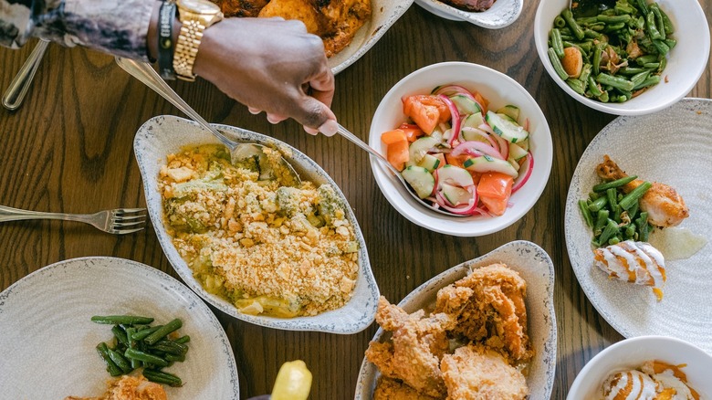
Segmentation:
<svg viewBox="0 0 712 400">
<path fill-rule="evenodd" d="M 366 358 L 389 378 L 400 379 L 424 395 L 445 397 L 440 357 L 448 350 L 446 330 L 455 319 L 445 314 L 424 317 L 425 311 L 408 314 L 381 297 L 376 321 L 393 332 L 392 342 L 371 342 Z"/>
</svg>

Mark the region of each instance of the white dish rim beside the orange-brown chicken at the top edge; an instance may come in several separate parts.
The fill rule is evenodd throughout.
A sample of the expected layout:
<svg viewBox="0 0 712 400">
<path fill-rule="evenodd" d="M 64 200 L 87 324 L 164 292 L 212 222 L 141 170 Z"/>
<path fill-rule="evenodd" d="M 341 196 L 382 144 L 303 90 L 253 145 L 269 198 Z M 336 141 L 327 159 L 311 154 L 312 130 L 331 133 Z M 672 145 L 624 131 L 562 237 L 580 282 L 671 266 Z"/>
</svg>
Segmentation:
<svg viewBox="0 0 712 400">
<path fill-rule="evenodd" d="M 371 18 L 356 32 L 349 46 L 329 58 L 331 71 L 338 74 L 361 58 L 412 4 L 413 0 L 372 0 Z"/>
</svg>

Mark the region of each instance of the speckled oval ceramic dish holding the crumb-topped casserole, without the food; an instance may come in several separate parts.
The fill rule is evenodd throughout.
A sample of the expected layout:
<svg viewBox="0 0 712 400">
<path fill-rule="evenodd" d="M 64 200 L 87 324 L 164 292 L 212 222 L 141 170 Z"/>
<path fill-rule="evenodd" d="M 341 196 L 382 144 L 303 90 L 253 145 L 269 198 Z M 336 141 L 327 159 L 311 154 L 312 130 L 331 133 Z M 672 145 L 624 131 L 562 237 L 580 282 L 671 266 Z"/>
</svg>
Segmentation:
<svg viewBox="0 0 712 400">
<path fill-rule="evenodd" d="M 237 142 L 257 142 L 272 148 L 277 148 L 286 154 L 285 159 L 298 171 L 302 180 L 309 180 L 317 185 L 331 184 L 341 202 L 346 206 L 346 214 L 359 243 L 359 276 L 353 291 L 353 296 L 346 305 L 340 309 L 320 313 L 316 316 L 281 319 L 266 316 L 246 315 L 238 312 L 229 301 L 207 292 L 197 279 L 193 271 L 185 263 L 173 246 L 172 237 L 166 232 L 163 222 L 162 196 L 158 191 L 158 174 L 166 163 L 166 156 L 180 152 L 183 147 L 199 144 L 219 143 L 215 137 L 200 128 L 193 121 L 187 121 L 174 116 L 158 116 L 146 121 L 133 142 L 136 160 L 141 169 L 143 189 L 146 195 L 146 205 L 151 217 L 152 225 L 156 231 L 163 252 L 171 265 L 181 276 L 183 282 L 200 295 L 205 301 L 215 308 L 235 317 L 268 328 L 287 331 L 319 331 L 332 333 L 355 333 L 368 327 L 374 318 L 378 303 L 379 290 L 371 272 L 366 243 L 361 234 L 361 228 L 348 205 L 346 197 L 341 193 L 337 184 L 330 176 L 304 153 L 265 135 L 249 132 L 239 128 L 215 125 L 221 132 Z"/>
</svg>

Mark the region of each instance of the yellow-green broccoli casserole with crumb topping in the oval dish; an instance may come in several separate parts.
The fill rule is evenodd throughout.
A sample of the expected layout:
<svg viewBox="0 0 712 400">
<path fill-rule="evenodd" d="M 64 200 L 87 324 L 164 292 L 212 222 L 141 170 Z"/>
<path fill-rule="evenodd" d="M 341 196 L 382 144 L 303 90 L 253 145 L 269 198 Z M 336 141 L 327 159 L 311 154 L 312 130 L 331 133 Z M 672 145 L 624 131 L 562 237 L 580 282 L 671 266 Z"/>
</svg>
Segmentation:
<svg viewBox="0 0 712 400">
<path fill-rule="evenodd" d="M 233 165 L 222 145 L 169 155 L 159 191 L 173 245 L 204 289 L 240 312 L 288 318 L 340 308 L 359 269 L 345 205 L 330 184 L 291 187 L 259 170 Z"/>
</svg>

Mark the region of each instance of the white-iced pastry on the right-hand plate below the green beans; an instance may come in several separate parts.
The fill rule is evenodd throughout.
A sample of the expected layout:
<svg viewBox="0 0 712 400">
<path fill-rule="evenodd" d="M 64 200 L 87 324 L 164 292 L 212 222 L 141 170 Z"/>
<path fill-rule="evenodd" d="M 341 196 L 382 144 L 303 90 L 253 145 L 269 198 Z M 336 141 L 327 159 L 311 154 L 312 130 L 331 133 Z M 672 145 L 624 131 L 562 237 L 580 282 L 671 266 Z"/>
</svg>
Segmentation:
<svg viewBox="0 0 712 400">
<path fill-rule="evenodd" d="M 645 242 L 626 240 L 617 245 L 593 250 L 596 266 L 609 277 L 652 286 L 657 300 L 663 299 L 665 258 Z"/>
</svg>

